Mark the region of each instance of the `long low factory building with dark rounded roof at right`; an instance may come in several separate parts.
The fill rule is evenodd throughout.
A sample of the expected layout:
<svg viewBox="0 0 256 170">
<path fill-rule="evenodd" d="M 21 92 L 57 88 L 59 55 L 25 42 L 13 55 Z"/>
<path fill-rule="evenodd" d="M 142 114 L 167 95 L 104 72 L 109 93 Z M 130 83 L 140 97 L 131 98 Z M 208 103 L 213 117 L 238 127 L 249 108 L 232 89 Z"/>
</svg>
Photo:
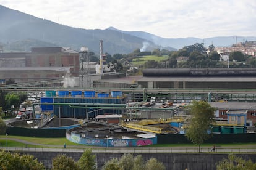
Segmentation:
<svg viewBox="0 0 256 170">
<path fill-rule="evenodd" d="M 145 69 L 137 84 L 143 88 L 254 89 L 256 68 Z"/>
</svg>

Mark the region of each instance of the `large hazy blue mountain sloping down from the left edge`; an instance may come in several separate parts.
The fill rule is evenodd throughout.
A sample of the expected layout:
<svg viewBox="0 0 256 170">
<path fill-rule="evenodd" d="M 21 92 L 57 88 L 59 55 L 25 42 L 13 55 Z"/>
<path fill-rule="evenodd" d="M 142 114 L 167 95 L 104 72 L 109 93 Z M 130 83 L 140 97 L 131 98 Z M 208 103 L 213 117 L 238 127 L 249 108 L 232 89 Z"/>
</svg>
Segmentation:
<svg viewBox="0 0 256 170">
<path fill-rule="evenodd" d="M 4 6 L 0 6 L 0 23 L 0 42 L 4 44 L 4 49 L 9 46 L 7 44 L 25 42 L 27 39 L 51 43 L 55 46 L 72 47 L 76 50 L 87 46 L 95 53 L 99 53 L 99 41 L 103 39 L 103 52 L 109 54 L 130 53 L 134 49 L 143 47 L 143 42 L 147 42 L 148 50 L 159 47 L 153 42 L 119 31 L 72 28 Z M 24 44 L 22 49 L 27 49 L 30 45 Z"/>
</svg>

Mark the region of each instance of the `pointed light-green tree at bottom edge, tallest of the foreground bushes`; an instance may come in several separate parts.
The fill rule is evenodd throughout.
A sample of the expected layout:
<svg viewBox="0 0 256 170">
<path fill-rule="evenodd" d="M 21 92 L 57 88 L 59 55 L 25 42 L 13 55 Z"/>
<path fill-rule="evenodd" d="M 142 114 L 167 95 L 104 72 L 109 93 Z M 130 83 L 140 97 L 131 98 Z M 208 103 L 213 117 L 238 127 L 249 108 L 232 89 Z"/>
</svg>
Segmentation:
<svg viewBox="0 0 256 170">
<path fill-rule="evenodd" d="M 96 155 L 92 155 L 92 150 L 87 149 L 85 150 L 85 152 L 83 152 L 82 156 L 77 161 L 77 164 L 80 169 L 94 170 L 97 169 L 95 164 L 95 158 Z"/>
</svg>

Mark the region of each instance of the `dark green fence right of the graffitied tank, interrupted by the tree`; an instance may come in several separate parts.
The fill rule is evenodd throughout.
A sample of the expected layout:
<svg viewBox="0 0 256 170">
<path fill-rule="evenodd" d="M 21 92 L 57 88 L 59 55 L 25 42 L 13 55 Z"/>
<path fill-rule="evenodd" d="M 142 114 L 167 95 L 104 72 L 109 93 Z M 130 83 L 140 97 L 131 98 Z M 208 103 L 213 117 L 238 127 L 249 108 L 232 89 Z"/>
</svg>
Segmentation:
<svg viewBox="0 0 256 170">
<path fill-rule="evenodd" d="M 158 144 L 187 144 L 191 143 L 184 134 L 158 134 Z M 249 143 L 256 142 L 256 134 L 213 134 L 205 141 L 208 144 Z"/>
</svg>

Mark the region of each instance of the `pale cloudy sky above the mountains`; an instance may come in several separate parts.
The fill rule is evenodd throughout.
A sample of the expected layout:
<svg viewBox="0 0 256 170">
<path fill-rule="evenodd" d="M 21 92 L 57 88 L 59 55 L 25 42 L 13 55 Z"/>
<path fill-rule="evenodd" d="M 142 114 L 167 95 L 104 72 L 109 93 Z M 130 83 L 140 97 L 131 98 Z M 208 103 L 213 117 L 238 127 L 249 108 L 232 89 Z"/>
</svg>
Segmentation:
<svg viewBox="0 0 256 170">
<path fill-rule="evenodd" d="M 145 31 L 163 38 L 256 36 L 255 0 L 0 0 L 75 28 Z"/>
</svg>

